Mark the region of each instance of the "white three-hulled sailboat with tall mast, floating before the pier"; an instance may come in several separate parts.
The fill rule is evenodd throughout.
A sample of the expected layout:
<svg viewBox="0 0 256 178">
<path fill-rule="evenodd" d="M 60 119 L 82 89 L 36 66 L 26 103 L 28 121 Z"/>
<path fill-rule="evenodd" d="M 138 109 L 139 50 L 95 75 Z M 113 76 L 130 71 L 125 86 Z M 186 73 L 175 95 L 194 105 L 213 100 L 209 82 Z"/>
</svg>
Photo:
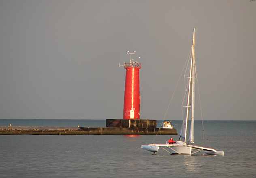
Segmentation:
<svg viewBox="0 0 256 178">
<path fill-rule="evenodd" d="M 188 93 L 187 93 L 187 103 L 186 103 L 186 117 L 183 119 L 183 124 L 181 126 L 180 139 L 174 144 L 148 144 L 141 145 L 140 148 L 155 153 L 162 148 L 169 154 L 181 154 L 181 155 L 194 155 L 200 151 L 204 151 L 206 155 L 224 155 L 223 151 L 218 151 L 213 148 L 206 148 L 202 146 L 196 146 L 194 144 L 194 105 L 195 105 L 195 78 L 196 78 L 196 66 L 195 66 L 195 55 L 194 55 L 194 47 L 195 47 L 195 28 L 193 31 L 193 42 L 191 47 L 191 60 L 190 60 L 190 72 L 189 72 L 189 80 L 188 80 Z M 190 117 L 191 112 L 191 117 Z M 191 118 L 190 124 L 190 136 L 188 135 L 188 121 Z"/>
</svg>

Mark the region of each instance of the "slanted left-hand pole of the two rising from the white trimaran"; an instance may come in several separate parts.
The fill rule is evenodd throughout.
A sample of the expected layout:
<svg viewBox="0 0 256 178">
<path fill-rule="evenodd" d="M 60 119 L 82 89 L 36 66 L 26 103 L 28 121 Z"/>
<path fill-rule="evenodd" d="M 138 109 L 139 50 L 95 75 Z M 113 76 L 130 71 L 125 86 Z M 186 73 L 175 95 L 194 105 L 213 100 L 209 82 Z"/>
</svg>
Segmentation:
<svg viewBox="0 0 256 178">
<path fill-rule="evenodd" d="M 194 29 L 195 32 L 195 29 Z M 193 44 L 194 44 L 194 33 L 193 33 Z M 186 127 L 185 127 L 185 138 L 184 142 L 186 143 L 187 138 L 187 130 L 188 130 L 188 117 L 189 117 L 189 110 L 190 110 L 190 94 L 191 94 L 191 84 L 193 83 L 192 80 L 192 70 L 193 70 L 193 44 L 192 44 L 192 53 L 191 53 L 191 64 L 190 64 L 190 76 L 189 76 L 189 85 L 188 85 L 188 102 L 187 102 L 187 114 L 186 114 Z"/>
</svg>

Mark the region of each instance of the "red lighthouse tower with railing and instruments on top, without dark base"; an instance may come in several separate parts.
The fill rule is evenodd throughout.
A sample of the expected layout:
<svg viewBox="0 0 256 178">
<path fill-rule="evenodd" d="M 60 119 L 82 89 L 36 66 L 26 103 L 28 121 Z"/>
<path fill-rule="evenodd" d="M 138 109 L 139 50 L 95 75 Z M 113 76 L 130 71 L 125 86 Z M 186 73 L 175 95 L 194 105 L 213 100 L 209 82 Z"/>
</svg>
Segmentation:
<svg viewBox="0 0 256 178">
<path fill-rule="evenodd" d="M 124 88 L 124 116 L 123 119 L 140 119 L 140 69 L 141 64 L 134 61 L 132 55 L 136 51 L 127 51 L 130 55 L 130 62 L 119 65 L 126 69 Z"/>
</svg>

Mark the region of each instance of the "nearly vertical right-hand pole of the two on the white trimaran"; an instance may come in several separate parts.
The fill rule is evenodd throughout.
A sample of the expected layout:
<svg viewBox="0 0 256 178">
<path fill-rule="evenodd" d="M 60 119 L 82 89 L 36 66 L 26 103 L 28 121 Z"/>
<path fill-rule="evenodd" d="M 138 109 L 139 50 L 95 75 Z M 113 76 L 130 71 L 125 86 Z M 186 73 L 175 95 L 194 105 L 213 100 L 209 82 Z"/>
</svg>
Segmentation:
<svg viewBox="0 0 256 178">
<path fill-rule="evenodd" d="M 193 32 L 192 44 L 192 110 L 191 110 L 191 128 L 190 128 L 190 143 L 194 143 L 194 110 L 195 110 L 195 28 Z"/>
</svg>

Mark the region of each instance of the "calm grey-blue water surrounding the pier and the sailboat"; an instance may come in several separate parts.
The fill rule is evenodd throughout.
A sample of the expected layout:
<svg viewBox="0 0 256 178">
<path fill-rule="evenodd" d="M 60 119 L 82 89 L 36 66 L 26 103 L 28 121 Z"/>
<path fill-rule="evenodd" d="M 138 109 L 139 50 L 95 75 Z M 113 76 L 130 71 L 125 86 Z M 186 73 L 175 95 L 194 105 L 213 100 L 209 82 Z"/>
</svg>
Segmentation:
<svg viewBox="0 0 256 178">
<path fill-rule="evenodd" d="M 105 120 L 0 119 L 0 125 L 104 127 Z M 173 121 L 179 130 L 181 121 Z M 255 177 L 256 121 L 195 122 L 195 142 L 222 156 L 156 156 L 137 149 L 169 136 L 0 136 L 1 178 Z M 178 136 L 174 136 L 175 139 Z"/>
</svg>

